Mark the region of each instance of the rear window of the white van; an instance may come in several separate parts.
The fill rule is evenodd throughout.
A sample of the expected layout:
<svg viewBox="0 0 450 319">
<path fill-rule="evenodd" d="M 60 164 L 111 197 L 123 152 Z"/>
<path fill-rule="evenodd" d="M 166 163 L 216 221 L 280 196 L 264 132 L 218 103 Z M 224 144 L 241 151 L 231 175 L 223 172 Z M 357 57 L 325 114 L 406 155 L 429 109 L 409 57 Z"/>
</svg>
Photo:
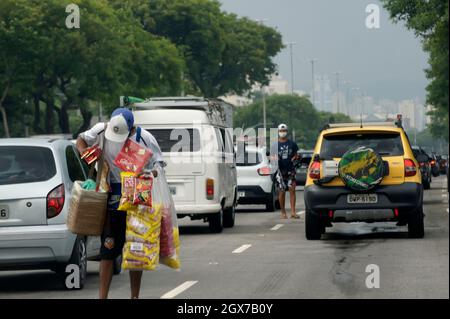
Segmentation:
<svg viewBox="0 0 450 319">
<path fill-rule="evenodd" d="M 200 133 L 198 129 L 151 129 L 161 152 L 198 152 Z"/>
</svg>

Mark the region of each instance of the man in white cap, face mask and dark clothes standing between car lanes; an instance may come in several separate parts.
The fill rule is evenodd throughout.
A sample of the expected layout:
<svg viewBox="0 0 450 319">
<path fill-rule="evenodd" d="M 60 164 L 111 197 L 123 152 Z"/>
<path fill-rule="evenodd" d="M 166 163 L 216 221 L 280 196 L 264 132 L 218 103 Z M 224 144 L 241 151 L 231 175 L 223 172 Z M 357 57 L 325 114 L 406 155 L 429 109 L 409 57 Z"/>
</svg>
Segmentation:
<svg viewBox="0 0 450 319">
<path fill-rule="evenodd" d="M 298 219 L 295 209 L 296 194 L 295 194 L 295 166 L 294 162 L 299 158 L 297 151 L 297 144 L 288 139 L 288 126 L 280 124 L 278 126 L 278 143 L 272 145 L 272 158 L 277 162 L 278 171 L 276 176 L 276 184 L 279 189 L 279 201 L 281 206 L 281 218 L 287 219 L 285 208 L 286 192 L 289 191 L 289 198 L 291 202 L 291 218 Z"/>
</svg>

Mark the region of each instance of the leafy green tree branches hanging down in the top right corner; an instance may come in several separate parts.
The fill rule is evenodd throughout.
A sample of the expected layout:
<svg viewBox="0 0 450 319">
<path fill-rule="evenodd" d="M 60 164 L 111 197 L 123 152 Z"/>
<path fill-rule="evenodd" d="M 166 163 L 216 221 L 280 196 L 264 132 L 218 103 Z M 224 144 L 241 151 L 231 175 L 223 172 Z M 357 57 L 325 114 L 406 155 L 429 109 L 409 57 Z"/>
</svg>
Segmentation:
<svg viewBox="0 0 450 319">
<path fill-rule="evenodd" d="M 448 141 L 449 110 L 449 3 L 442 0 L 383 0 L 391 18 L 405 21 L 423 41 L 423 48 L 429 53 L 426 75 L 430 79 L 427 86 L 427 103 L 433 106 L 430 112 L 430 131 L 435 137 Z"/>
</svg>

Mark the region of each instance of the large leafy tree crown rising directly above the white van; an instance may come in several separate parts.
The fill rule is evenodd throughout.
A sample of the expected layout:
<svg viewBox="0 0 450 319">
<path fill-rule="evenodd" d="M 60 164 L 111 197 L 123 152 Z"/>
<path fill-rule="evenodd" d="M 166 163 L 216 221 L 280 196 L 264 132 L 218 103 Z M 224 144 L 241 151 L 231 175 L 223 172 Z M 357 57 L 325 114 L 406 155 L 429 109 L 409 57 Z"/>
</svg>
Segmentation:
<svg viewBox="0 0 450 319">
<path fill-rule="evenodd" d="M 267 83 L 282 49 L 281 35 L 247 18 L 225 13 L 216 0 L 111 0 L 129 6 L 149 32 L 183 53 L 188 93 L 217 97 Z"/>
</svg>

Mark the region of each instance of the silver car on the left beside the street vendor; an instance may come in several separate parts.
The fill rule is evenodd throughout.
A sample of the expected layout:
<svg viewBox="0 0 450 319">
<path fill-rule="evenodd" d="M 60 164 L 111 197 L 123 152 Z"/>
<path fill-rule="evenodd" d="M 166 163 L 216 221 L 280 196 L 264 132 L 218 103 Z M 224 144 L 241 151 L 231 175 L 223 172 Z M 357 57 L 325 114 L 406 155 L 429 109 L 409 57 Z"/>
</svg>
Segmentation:
<svg viewBox="0 0 450 319">
<path fill-rule="evenodd" d="M 75 264 L 83 287 L 101 242 L 72 234 L 66 218 L 73 182 L 87 172 L 70 141 L 0 139 L 0 270 L 51 269 L 65 279 Z"/>
</svg>

